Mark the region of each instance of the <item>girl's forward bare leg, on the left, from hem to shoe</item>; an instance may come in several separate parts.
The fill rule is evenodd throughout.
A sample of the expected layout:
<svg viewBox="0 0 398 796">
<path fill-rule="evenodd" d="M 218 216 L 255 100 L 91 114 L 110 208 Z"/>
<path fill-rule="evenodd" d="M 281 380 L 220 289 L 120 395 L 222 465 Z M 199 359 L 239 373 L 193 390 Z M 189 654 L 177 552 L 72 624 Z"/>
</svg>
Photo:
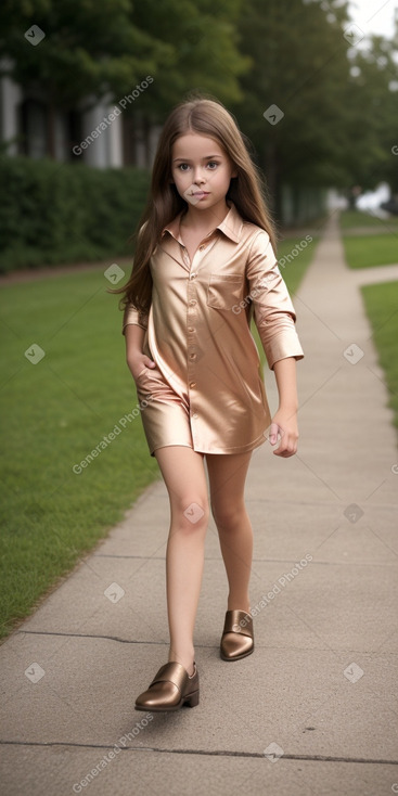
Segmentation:
<svg viewBox="0 0 398 796">
<path fill-rule="evenodd" d="M 193 632 L 201 592 L 205 537 L 209 517 L 203 454 L 184 446 L 154 451 L 170 500 L 166 551 L 168 660 L 193 673 Z"/>
</svg>

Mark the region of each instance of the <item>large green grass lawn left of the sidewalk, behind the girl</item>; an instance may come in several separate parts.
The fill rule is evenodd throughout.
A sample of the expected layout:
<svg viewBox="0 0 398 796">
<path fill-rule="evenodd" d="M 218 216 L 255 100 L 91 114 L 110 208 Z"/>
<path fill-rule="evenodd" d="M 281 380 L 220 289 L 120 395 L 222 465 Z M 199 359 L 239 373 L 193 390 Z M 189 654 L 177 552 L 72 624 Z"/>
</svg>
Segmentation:
<svg viewBox="0 0 398 796">
<path fill-rule="evenodd" d="M 295 240 L 279 246 L 288 254 Z M 314 243 L 286 268 L 297 287 Z M 118 296 L 103 269 L 3 285 L 0 635 L 40 602 L 154 478 L 140 416 L 75 473 L 137 406 Z M 265 355 L 253 329 L 262 363 Z M 25 357 L 39 346 L 36 364 Z"/>
</svg>

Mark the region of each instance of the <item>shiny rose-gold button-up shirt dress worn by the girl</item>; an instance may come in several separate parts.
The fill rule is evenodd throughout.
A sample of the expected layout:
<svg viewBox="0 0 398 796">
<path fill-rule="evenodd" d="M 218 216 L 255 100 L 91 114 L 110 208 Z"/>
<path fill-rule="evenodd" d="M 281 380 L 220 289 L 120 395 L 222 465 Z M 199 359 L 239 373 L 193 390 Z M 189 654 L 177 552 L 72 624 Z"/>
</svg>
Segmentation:
<svg viewBox="0 0 398 796">
<path fill-rule="evenodd" d="M 183 445 L 202 453 L 243 453 L 265 442 L 271 423 L 255 324 L 270 370 L 304 358 L 296 313 L 269 235 L 229 211 L 192 262 L 180 236 L 180 213 L 152 255 L 147 314 L 131 304 L 129 323 L 145 330 L 143 352 L 156 368 L 137 376 L 137 396 L 151 455 Z"/>
</svg>

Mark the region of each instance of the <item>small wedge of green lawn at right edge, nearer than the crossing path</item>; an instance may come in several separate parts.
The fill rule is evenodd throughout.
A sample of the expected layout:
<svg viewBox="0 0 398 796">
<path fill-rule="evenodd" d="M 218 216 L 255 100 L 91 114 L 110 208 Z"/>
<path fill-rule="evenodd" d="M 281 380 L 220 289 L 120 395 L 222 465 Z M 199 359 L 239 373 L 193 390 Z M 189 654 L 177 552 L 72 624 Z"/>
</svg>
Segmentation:
<svg viewBox="0 0 398 796">
<path fill-rule="evenodd" d="M 365 310 L 373 330 L 373 339 L 389 390 L 388 406 L 394 410 L 398 428 L 398 282 L 361 287 Z"/>
</svg>

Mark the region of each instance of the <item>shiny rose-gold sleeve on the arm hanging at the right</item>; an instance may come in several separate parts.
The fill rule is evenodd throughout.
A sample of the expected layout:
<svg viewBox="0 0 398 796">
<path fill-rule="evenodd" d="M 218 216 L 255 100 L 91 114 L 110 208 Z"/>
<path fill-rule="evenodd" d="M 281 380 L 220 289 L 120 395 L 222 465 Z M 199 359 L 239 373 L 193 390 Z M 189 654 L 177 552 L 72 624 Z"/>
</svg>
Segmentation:
<svg viewBox="0 0 398 796">
<path fill-rule="evenodd" d="M 253 241 L 246 275 L 254 320 L 269 369 L 273 370 L 279 359 L 303 359 L 305 355 L 295 328 L 296 312 L 265 231 Z"/>
</svg>

